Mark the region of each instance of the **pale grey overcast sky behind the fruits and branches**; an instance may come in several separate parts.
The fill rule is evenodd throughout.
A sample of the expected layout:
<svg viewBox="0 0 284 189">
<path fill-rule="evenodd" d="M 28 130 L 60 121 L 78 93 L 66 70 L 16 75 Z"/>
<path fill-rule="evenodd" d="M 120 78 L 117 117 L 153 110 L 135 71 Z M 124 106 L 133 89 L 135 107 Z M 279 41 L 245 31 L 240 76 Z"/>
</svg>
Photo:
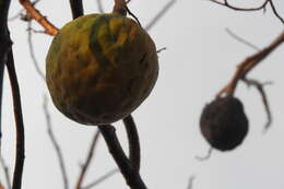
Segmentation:
<svg viewBox="0 0 284 189">
<path fill-rule="evenodd" d="M 132 0 L 131 11 L 142 25 L 162 9 L 167 1 Z M 274 1 L 273 1 L 274 2 Z M 257 4 L 261 1 L 249 1 Z M 284 2 L 275 0 L 284 16 Z M 85 13 L 97 12 L 95 0 L 84 1 Z M 245 4 L 246 5 L 246 4 Z M 71 20 L 68 1 L 42 0 L 37 7 L 58 27 Z M 106 11 L 113 1 L 104 2 Z M 21 9 L 12 1 L 11 16 Z M 150 97 L 133 113 L 141 138 L 141 176 L 149 188 L 185 189 L 194 175 L 194 189 L 282 189 L 284 187 L 284 104 L 283 55 L 277 48 L 248 76 L 260 81 L 273 81 L 267 93 L 273 114 L 273 125 L 262 134 L 267 121 L 260 95 L 256 88 L 244 84 L 237 87 L 249 118 L 249 133 L 238 149 L 229 153 L 213 152 L 206 162 L 194 156 L 206 153 L 209 145 L 199 130 L 199 117 L 205 103 L 230 80 L 236 66 L 253 49 L 233 39 L 225 28 L 265 47 L 282 31 L 283 24 L 272 14 L 263 12 L 235 12 L 206 0 L 178 0 L 171 10 L 151 29 L 157 48 L 167 47 L 159 57 L 159 78 Z M 34 28 L 42 29 L 37 24 Z M 10 23 L 14 42 L 16 72 L 22 93 L 23 116 L 26 129 L 26 158 L 23 188 L 62 188 L 62 179 L 55 151 L 46 132 L 43 114 L 45 83 L 35 72 L 26 35 L 26 23 Z M 45 56 L 51 43 L 50 36 L 34 34 L 34 44 L 40 68 L 45 70 Z M 5 78 L 3 98 L 2 154 L 12 167 L 14 163 L 14 121 L 9 82 Z M 68 120 L 50 103 L 56 137 L 66 158 L 68 176 L 73 186 L 79 165 L 84 161 L 95 127 L 86 127 Z M 127 150 L 123 127 L 116 123 L 117 133 Z M 115 168 L 103 139 L 84 184 Z M 3 173 L 0 172 L 3 180 Z M 109 178 L 97 189 L 126 188 L 120 174 Z"/>
</svg>

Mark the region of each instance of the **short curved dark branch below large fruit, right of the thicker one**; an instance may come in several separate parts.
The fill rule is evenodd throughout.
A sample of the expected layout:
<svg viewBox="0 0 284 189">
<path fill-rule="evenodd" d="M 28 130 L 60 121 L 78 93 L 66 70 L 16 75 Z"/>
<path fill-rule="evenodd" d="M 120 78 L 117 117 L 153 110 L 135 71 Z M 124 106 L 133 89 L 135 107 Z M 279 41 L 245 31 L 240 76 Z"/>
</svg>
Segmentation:
<svg viewBox="0 0 284 189">
<path fill-rule="evenodd" d="M 132 166 L 137 169 L 137 172 L 139 172 L 141 155 L 137 125 L 131 115 L 123 118 L 123 123 L 128 137 L 129 160 L 132 163 Z"/>
</svg>

